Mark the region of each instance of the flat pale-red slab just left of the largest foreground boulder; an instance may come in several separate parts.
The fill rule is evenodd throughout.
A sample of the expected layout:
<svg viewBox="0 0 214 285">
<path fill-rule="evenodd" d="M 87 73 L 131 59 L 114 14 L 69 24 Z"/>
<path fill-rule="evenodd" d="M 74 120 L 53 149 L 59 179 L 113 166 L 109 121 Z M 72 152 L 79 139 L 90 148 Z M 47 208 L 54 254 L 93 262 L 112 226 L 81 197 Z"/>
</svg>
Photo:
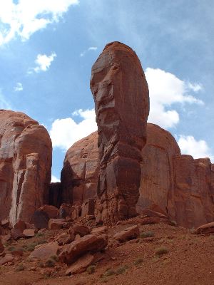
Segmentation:
<svg viewBox="0 0 214 285">
<path fill-rule="evenodd" d="M 51 255 L 56 255 L 58 251 L 57 242 L 49 242 L 49 244 L 42 244 L 31 252 L 29 258 L 48 259 Z"/>
</svg>

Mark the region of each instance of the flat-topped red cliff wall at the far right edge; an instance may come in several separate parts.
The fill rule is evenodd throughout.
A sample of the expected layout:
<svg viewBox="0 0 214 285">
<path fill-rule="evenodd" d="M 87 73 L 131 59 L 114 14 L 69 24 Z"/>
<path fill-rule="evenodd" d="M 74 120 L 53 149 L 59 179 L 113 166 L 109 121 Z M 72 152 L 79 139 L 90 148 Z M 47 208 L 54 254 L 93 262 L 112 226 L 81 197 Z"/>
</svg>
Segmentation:
<svg viewBox="0 0 214 285">
<path fill-rule="evenodd" d="M 208 158 L 173 157 L 175 207 L 169 214 L 183 227 L 199 227 L 214 221 L 212 164 Z"/>
</svg>

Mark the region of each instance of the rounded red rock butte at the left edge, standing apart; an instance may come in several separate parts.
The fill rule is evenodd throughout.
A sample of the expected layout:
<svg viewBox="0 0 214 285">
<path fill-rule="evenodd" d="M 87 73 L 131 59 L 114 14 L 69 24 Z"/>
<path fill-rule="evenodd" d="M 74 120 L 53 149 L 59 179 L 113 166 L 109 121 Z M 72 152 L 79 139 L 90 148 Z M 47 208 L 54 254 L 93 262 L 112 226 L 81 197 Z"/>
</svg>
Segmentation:
<svg viewBox="0 0 214 285">
<path fill-rule="evenodd" d="M 0 219 L 29 222 L 48 202 L 51 139 L 24 113 L 0 110 Z"/>
</svg>

